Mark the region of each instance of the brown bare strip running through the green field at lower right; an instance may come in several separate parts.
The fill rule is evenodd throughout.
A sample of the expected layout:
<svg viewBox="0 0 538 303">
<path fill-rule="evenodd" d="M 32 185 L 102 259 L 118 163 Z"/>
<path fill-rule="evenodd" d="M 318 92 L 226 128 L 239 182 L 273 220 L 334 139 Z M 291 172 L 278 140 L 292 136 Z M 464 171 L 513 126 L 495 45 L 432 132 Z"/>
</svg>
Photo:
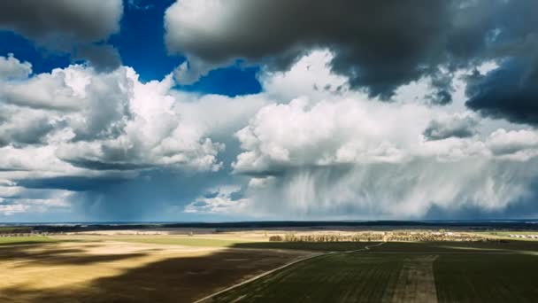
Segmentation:
<svg viewBox="0 0 538 303">
<path fill-rule="evenodd" d="M 406 259 L 394 290 L 388 290 L 382 301 L 386 303 L 436 303 L 435 259 L 437 259 L 436 255 Z"/>
</svg>

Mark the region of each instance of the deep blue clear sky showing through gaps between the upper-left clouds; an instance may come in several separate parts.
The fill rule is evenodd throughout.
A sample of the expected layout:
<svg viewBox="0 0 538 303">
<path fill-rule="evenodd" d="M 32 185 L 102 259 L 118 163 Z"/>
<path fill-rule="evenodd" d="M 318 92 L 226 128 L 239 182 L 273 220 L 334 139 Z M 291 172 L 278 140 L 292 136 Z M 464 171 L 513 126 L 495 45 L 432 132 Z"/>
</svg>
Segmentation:
<svg viewBox="0 0 538 303">
<path fill-rule="evenodd" d="M 142 82 L 160 80 L 185 61 L 181 55 L 169 55 L 165 47 L 164 15 L 171 4 L 173 1 L 125 1 L 119 33 L 105 41 L 117 48 L 122 63 L 135 68 Z M 16 53 L 19 60 L 32 62 L 35 74 L 81 62 L 72 60 L 69 53 L 47 50 L 10 30 L 0 31 L 0 41 L 0 55 Z M 227 96 L 254 94 L 261 89 L 256 79 L 258 70 L 257 66 L 227 66 L 211 71 L 192 85 L 179 85 L 179 89 Z"/>
</svg>

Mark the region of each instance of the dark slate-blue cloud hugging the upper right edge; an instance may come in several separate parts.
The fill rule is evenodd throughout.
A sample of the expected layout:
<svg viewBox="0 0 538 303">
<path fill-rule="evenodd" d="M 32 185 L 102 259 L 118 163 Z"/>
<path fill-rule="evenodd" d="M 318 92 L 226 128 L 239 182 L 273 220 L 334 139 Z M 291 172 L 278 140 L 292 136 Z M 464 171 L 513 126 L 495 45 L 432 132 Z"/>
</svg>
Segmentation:
<svg viewBox="0 0 538 303">
<path fill-rule="evenodd" d="M 489 56 L 501 66 L 469 78 L 466 105 L 492 118 L 538 124 L 538 1 L 510 1 L 496 14 Z"/>
</svg>

